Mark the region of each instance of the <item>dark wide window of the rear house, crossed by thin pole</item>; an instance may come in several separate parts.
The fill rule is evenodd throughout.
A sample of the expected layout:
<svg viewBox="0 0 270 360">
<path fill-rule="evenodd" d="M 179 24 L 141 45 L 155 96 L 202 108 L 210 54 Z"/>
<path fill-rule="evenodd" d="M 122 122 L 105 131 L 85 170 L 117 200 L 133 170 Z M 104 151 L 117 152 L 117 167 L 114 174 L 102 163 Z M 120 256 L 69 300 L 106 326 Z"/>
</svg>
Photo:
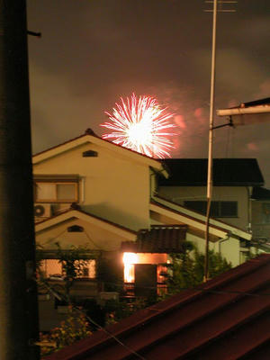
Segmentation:
<svg viewBox="0 0 270 360">
<path fill-rule="evenodd" d="M 206 214 L 206 201 L 186 201 L 184 206 Z M 236 218 L 238 216 L 238 202 L 211 202 L 211 216 L 214 218 Z"/>
</svg>

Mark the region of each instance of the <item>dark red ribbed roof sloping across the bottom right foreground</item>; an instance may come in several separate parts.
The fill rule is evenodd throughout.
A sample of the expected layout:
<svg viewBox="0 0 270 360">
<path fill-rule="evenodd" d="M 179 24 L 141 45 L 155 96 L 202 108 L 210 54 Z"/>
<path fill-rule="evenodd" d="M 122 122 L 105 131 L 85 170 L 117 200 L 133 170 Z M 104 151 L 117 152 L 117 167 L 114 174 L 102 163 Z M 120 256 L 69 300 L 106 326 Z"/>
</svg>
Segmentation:
<svg viewBox="0 0 270 360">
<path fill-rule="evenodd" d="M 107 330 L 46 360 L 269 359 L 270 255 L 138 311 Z"/>
</svg>

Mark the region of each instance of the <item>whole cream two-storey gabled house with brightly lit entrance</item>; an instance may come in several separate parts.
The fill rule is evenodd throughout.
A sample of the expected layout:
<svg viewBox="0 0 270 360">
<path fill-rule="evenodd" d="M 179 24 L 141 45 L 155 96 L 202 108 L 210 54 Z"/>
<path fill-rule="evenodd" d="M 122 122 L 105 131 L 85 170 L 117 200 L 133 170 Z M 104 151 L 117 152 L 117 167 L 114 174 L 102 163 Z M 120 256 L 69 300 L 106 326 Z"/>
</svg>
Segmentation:
<svg viewBox="0 0 270 360">
<path fill-rule="evenodd" d="M 32 163 L 41 269 L 58 288 L 62 267 L 56 243 L 64 251 L 86 246 L 87 266 L 73 295 L 89 298 L 105 290 L 96 281 L 103 260 L 109 261 L 112 269 L 123 267 L 128 284 L 134 284 L 135 273 L 138 280 L 139 268 L 148 265 L 152 279 L 162 287 L 162 264 L 169 261 L 170 252 L 181 251 L 184 240 L 204 251 L 204 214 L 163 197 L 166 185 L 160 179 L 168 177 L 166 161 L 122 148 L 86 130 L 75 139 L 34 155 Z M 220 219 L 210 220 L 209 231 L 210 248 L 238 266 L 243 261 L 243 244 L 250 241 L 251 234 L 233 221 Z M 158 248 L 157 238 L 162 240 Z M 127 243 L 139 247 L 128 249 Z M 151 247 L 151 243 L 156 245 Z M 48 299 L 43 295 L 45 306 Z"/>
</svg>

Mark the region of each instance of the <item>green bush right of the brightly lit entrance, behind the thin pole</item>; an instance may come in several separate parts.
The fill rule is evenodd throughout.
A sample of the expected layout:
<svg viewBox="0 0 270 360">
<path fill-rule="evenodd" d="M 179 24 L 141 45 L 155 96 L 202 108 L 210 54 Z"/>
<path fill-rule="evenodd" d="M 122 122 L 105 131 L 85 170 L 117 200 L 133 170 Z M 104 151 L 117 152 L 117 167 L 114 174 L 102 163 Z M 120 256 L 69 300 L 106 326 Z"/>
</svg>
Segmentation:
<svg viewBox="0 0 270 360">
<path fill-rule="evenodd" d="M 197 248 L 189 247 L 184 253 L 171 254 L 172 264 L 168 265 L 167 286 L 168 293 L 179 293 L 185 289 L 202 284 L 205 256 Z M 231 264 L 227 260 L 209 251 L 209 274 L 215 277 L 228 271 Z"/>
</svg>

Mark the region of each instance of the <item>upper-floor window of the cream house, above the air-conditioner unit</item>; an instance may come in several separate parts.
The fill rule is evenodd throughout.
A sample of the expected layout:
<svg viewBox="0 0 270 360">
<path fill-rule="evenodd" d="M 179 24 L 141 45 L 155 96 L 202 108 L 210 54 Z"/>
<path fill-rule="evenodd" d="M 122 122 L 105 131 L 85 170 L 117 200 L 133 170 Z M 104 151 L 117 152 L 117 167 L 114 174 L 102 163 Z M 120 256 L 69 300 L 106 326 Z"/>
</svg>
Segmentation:
<svg viewBox="0 0 270 360">
<path fill-rule="evenodd" d="M 36 202 L 77 202 L 77 199 L 77 183 L 36 183 Z"/>
</svg>

